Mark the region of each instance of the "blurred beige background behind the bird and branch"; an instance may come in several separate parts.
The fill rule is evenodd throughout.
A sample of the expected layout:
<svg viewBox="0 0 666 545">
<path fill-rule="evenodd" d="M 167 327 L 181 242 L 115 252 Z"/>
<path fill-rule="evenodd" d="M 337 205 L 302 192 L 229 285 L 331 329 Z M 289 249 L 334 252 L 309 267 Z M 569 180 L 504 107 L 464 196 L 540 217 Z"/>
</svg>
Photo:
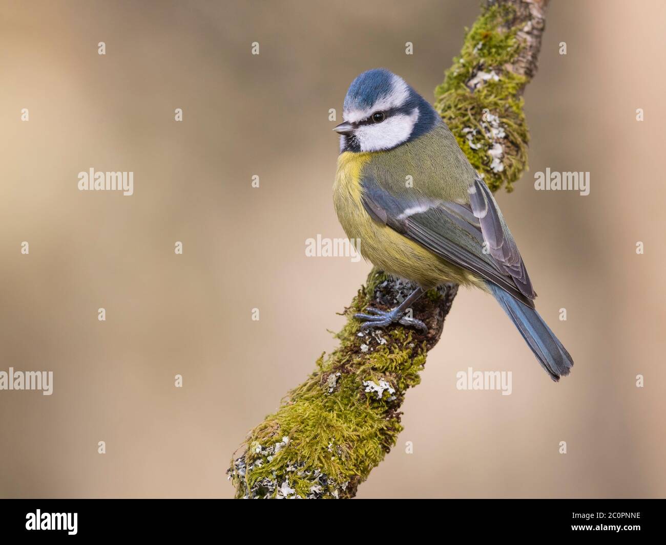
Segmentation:
<svg viewBox="0 0 666 545">
<path fill-rule="evenodd" d="M 306 238 L 343 236 L 328 108 L 372 67 L 432 100 L 477 14 L 3 1 L 0 370 L 55 379 L 51 397 L 0 391 L 0 496 L 232 494 L 231 453 L 334 347 L 326 330 L 370 269 L 304 255 Z M 525 94 L 531 171 L 498 194 L 572 375 L 551 383 L 499 305 L 462 291 L 359 497 L 665 495 L 665 18 L 660 1 L 551 6 Z M 91 166 L 132 170 L 135 194 L 79 192 Z M 546 167 L 591 172 L 590 195 L 536 192 Z M 513 394 L 456 390 L 469 366 L 513 371 Z"/>
</svg>

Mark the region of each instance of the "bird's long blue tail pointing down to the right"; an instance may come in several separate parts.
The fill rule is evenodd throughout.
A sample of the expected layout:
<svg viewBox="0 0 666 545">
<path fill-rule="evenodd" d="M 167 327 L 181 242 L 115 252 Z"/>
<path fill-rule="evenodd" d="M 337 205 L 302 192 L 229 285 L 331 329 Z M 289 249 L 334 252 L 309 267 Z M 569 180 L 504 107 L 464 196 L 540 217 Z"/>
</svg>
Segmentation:
<svg viewBox="0 0 666 545">
<path fill-rule="evenodd" d="M 562 375 L 568 375 L 573 359 L 537 311 L 521 303 L 501 287 L 490 282 L 488 287 L 551 379 L 557 382 Z"/>
</svg>

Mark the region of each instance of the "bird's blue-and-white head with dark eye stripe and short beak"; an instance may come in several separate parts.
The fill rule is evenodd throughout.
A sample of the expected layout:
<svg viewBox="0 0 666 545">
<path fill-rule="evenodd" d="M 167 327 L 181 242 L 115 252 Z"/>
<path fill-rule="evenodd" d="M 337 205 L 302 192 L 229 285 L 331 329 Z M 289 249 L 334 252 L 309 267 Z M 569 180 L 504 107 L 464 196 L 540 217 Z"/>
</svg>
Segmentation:
<svg viewBox="0 0 666 545">
<path fill-rule="evenodd" d="M 441 122 L 428 102 L 386 69 L 362 73 L 344 97 L 340 152 L 390 150 L 418 138 Z"/>
</svg>

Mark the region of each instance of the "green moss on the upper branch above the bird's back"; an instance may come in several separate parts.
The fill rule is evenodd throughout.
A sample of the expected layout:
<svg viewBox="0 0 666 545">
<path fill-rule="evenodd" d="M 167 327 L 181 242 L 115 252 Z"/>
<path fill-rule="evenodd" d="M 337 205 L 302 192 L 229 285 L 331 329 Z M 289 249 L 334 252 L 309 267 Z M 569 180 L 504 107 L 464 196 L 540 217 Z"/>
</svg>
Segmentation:
<svg viewBox="0 0 666 545">
<path fill-rule="evenodd" d="M 435 90 L 436 110 L 493 191 L 503 186 L 510 192 L 513 182 L 527 168 L 529 134 L 520 96 L 527 78 L 505 69 L 505 65 L 517 59 L 522 47 L 516 38 L 519 29 L 511 27 L 514 15 L 511 5 L 486 8 L 467 30 L 460 56 L 454 58 L 444 83 Z M 494 74 L 498 79 L 479 79 L 482 72 Z M 484 110 L 497 116 L 504 136 L 489 134 Z M 470 129 L 476 129 L 473 144 L 477 149 L 470 146 L 467 138 Z M 503 150 L 500 172 L 492 167 L 492 157 L 488 154 L 496 143 Z"/>
</svg>

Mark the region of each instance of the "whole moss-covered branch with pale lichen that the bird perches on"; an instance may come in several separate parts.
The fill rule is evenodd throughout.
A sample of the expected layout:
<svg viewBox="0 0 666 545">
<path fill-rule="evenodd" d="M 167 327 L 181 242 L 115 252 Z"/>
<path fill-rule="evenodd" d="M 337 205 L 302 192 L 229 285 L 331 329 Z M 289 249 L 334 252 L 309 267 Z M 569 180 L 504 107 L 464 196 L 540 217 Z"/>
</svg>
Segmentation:
<svg viewBox="0 0 666 545">
<path fill-rule="evenodd" d="M 488 0 L 460 56 L 435 91 L 435 107 L 492 190 L 527 168 L 522 92 L 537 67 L 547 0 Z M 442 334 L 458 291 L 446 284 L 414 305 L 428 325 L 360 331 L 354 313 L 389 309 L 414 286 L 373 269 L 350 307 L 338 348 L 248 434 L 228 475 L 237 498 L 352 498 L 402 431 L 400 407 Z"/>
</svg>

